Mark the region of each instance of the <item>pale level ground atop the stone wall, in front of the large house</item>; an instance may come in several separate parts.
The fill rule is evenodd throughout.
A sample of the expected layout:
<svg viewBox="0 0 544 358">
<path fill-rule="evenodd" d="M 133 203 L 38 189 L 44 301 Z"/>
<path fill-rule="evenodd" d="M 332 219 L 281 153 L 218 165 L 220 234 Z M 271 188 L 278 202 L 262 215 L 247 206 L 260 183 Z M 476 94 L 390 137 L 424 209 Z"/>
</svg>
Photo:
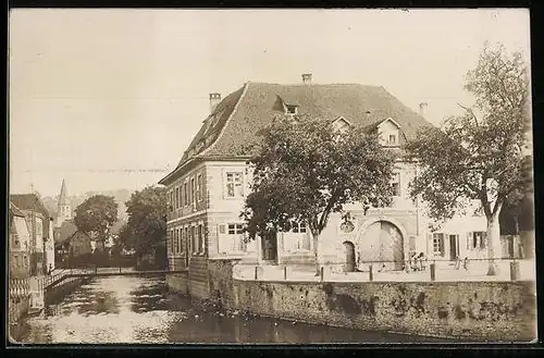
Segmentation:
<svg viewBox="0 0 544 358">
<path fill-rule="evenodd" d="M 518 260 L 519 277 L 522 281 L 535 280 L 535 262 L 534 260 Z M 510 261 L 496 261 L 498 274 L 487 275 L 487 262 L 472 261 L 467 269 L 462 267 L 456 269 L 453 262 L 437 262 L 435 281 L 452 282 L 452 281 L 510 281 Z M 238 264 L 234 268 L 233 275 L 237 280 L 257 280 L 258 281 L 321 281 L 320 276 L 316 276 L 311 269 L 300 270 L 287 267 L 286 272 L 281 266 L 260 266 L 255 264 Z M 362 272 L 338 272 L 342 267 L 327 267 L 324 271 L 324 281 L 329 282 L 369 282 L 368 266 L 360 266 Z M 431 273 L 429 268 L 423 271 L 405 272 L 405 271 L 383 271 L 379 272 L 378 268 L 373 269 L 373 281 L 392 281 L 392 282 L 430 282 Z"/>
</svg>

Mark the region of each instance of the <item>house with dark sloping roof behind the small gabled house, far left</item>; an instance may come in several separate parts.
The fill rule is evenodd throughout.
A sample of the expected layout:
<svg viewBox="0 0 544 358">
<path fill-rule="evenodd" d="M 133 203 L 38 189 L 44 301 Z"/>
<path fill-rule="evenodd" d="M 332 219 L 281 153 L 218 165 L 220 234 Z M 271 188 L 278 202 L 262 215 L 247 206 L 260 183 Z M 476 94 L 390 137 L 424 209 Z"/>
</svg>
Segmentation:
<svg viewBox="0 0 544 358">
<path fill-rule="evenodd" d="M 14 194 L 10 200 L 25 214 L 30 230 L 30 273 L 54 269 L 53 218 L 46 206 L 36 194 Z"/>
</svg>

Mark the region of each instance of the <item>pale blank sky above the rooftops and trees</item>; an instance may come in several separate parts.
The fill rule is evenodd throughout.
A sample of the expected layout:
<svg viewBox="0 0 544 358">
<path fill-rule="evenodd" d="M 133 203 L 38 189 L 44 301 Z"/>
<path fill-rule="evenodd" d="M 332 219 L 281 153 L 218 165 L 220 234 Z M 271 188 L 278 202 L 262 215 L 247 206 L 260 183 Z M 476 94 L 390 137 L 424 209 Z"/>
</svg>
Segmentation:
<svg viewBox="0 0 544 358">
<path fill-rule="evenodd" d="M 530 59 L 523 9 L 17 9 L 9 38 L 10 193 L 42 196 L 156 184 L 247 81 L 379 85 L 440 125 L 484 41 Z"/>
</svg>

